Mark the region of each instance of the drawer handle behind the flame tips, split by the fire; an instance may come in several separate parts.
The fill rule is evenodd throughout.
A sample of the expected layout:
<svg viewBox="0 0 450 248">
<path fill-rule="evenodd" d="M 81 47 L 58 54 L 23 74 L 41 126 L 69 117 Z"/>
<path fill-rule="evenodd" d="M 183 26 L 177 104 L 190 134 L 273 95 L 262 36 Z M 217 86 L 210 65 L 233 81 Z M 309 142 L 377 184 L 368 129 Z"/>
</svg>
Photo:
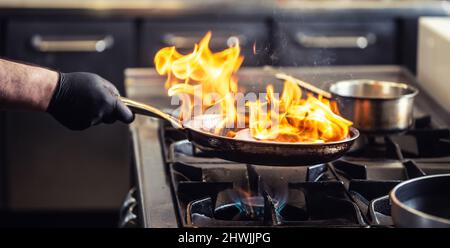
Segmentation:
<svg viewBox="0 0 450 248">
<path fill-rule="evenodd" d="M 192 49 L 195 43 L 200 41 L 201 35 L 193 35 L 193 36 L 182 36 L 176 34 L 165 34 L 163 36 L 163 43 L 166 46 L 175 46 L 179 49 Z M 244 35 L 223 35 L 223 36 L 214 36 L 210 41 L 210 46 L 213 48 L 222 47 L 223 45 L 227 45 L 231 47 L 239 42 L 239 45 L 245 46 L 247 43 L 247 37 Z"/>
</svg>

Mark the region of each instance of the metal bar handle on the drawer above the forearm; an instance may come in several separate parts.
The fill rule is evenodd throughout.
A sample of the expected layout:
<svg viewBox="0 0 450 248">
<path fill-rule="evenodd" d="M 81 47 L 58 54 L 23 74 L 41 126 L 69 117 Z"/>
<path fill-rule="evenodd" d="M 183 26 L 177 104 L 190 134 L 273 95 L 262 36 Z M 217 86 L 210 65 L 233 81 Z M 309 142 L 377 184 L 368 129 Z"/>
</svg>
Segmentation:
<svg viewBox="0 0 450 248">
<path fill-rule="evenodd" d="M 114 38 L 110 35 L 100 39 L 43 37 L 34 35 L 31 45 L 39 52 L 97 52 L 101 53 L 114 45 Z"/>
</svg>

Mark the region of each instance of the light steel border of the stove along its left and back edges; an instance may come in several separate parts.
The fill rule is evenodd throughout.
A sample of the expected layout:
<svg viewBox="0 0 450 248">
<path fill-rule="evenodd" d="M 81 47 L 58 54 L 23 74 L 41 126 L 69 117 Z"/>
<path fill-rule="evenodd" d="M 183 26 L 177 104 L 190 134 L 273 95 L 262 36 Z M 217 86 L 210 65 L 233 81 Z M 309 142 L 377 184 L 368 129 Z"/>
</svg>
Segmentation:
<svg viewBox="0 0 450 248">
<path fill-rule="evenodd" d="M 399 66 L 336 66 L 311 68 L 282 68 L 283 72 L 297 76 L 324 89 L 336 80 L 350 78 L 371 78 L 412 84 L 419 88 L 420 94 L 415 100 L 415 112 L 433 116 L 438 127 L 450 126 L 450 114 L 437 105 L 420 87 L 415 78 Z M 155 107 L 170 107 L 170 98 L 164 89 L 164 78 L 157 75 L 153 68 L 133 68 L 126 71 L 127 96 Z M 262 68 L 242 68 L 239 71 L 239 85 L 258 91 L 264 89 L 267 78 L 273 71 Z M 259 85 L 259 86 L 258 86 Z M 277 87 L 281 87 L 276 84 Z M 159 143 L 159 122 L 156 119 L 136 116 L 130 125 L 133 135 L 135 174 L 139 192 L 139 210 L 144 227 L 176 227 L 177 216 L 174 210 L 170 178 Z"/>
</svg>

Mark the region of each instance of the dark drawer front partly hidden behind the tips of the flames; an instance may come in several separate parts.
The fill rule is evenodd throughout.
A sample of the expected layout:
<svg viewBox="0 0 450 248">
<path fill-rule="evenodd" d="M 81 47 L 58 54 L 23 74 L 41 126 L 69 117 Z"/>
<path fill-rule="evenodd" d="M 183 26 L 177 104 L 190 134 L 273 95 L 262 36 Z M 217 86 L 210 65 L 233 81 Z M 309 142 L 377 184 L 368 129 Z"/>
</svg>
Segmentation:
<svg viewBox="0 0 450 248">
<path fill-rule="evenodd" d="M 153 66 L 156 52 L 167 46 L 175 46 L 182 53 L 192 52 L 194 43 L 198 43 L 212 31 L 210 49 L 220 51 L 238 38 L 244 65 L 264 65 L 268 59 L 268 28 L 264 22 L 252 23 L 153 23 L 143 25 L 140 62 L 144 66 Z M 256 54 L 253 52 L 255 44 Z"/>
</svg>

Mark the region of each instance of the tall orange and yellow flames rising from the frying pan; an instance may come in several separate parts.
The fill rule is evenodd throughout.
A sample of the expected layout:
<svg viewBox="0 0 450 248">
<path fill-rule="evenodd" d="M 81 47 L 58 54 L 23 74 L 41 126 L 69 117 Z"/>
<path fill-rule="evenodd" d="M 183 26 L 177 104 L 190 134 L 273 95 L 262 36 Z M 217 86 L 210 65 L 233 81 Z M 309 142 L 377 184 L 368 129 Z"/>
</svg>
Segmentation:
<svg viewBox="0 0 450 248">
<path fill-rule="evenodd" d="M 272 85 L 265 99 L 249 101 L 239 111 L 236 72 L 244 60 L 239 44 L 213 53 L 209 47 L 211 32 L 192 53 L 182 55 L 175 47 L 165 47 L 155 55 L 156 71 L 167 75 L 169 96 L 182 100 L 180 119 L 206 116 L 216 107 L 221 116 L 211 132 L 229 137 L 247 131 L 255 140 L 282 142 L 330 142 L 345 139 L 352 122 L 339 115 L 335 102 L 307 94 L 291 81 L 284 82 L 281 97 Z M 243 126 L 237 124 L 242 123 Z"/>
</svg>

